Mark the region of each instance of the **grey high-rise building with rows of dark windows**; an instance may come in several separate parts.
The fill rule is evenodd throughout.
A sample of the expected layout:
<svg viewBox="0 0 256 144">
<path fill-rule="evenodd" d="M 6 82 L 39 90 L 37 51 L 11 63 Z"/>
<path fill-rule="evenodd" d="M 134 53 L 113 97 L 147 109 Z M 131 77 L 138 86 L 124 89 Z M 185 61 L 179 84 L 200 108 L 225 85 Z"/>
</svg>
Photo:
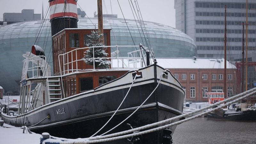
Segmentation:
<svg viewBox="0 0 256 144">
<path fill-rule="evenodd" d="M 225 5 L 227 60 L 242 61 L 243 23 L 246 54 L 246 0 L 175 0 L 176 28 L 192 37 L 198 57 L 224 58 Z M 248 61 L 256 61 L 256 1 L 248 0 Z M 245 56 L 244 56 L 245 59 Z"/>
</svg>

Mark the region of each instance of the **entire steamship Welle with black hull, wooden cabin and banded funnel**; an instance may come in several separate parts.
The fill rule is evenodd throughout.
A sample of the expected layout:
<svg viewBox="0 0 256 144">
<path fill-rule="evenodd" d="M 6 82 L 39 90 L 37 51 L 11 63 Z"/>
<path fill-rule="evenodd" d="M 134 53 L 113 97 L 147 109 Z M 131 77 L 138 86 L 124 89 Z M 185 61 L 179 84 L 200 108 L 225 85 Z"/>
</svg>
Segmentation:
<svg viewBox="0 0 256 144">
<path fill-rule="evenodd" d="M 110 29 L 101 30 L 104 45 L 87 47 L 92 31 L 97 29 L 77 28 L 76 1 L 50 0 L 49 4 L 53 75 L 43 48 L 33 45 L 31 52 L 23 54 L 18 115 L 2 112 L 6 124 L 76 139 L 122 132 L 182 115 L 185 92 L 171 71 L 156 64 L 152 51 L 141 44 L 110 46 Z M 107 53 L 106 57 L 94 56 L 102 47 L 100 52 Z M 128 57 L 119 57 L 122 48 L 133 51 Z M 84 58 L 89 52 L 93 57 Z M 112 54 L 116 56 L 110 57 Z M 108 68 L 97 64 L 102 59 L 110 62 Z M 108 143 L 172 143 L 176 126 Z"/>
</svg>

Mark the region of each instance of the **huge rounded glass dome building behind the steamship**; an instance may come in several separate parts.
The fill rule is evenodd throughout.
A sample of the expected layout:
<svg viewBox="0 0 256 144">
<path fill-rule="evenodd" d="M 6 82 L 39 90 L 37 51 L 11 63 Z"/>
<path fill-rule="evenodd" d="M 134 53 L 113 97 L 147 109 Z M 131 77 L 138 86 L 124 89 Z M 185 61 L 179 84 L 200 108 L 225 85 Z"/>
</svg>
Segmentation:
<svg viewBox="0 0 256 144">
<path fill-rule="evenodd" d="M 79 19 L 78 28 L 95 28 L 97 18 Z M 152 47 L 156 58 L 196 56 L 196 44 L 185 33 L 156 22 L 144 21 L 146 31 L 142 33 L 135 20 L 103 19 L 104 28 L 111 30 L 111 45 L 139 45 Z M 127 28 L 128 26 L 128 28 Z M 144 38 L 146 35 L 147 38 Z M 143 36 L 143 37 L 141 37 Z M 147 40 L 147 45 L 142 41 Z M 0 27 L 0 85 L 5 92 L 20 91 L 22 54 L 31 51 L 36 44 L 44 49 L 52 66 L 51 26 L 46 21 L 24 21 Z M 124 56 L 127 56 L 123 52 Z"/>
</svg>

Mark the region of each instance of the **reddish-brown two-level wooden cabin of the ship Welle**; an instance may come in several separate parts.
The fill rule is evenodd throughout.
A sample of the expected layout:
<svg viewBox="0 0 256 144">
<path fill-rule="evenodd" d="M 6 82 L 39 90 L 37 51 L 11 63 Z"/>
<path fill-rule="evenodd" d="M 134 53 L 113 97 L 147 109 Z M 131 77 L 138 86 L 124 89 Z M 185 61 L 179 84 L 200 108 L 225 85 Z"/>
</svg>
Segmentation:
<svg viewBox="0 0 256 144">
<path fill-rule="evenodd" d="M 93 30 L 97 29 L 66 28 L 52 36 L 53 71 L 54 76 L 62 75 L 64 97 L 92 90 L 124 75 L 128 71 L 97 70 L 81 60 L 84 58 L 84 52 L 86 51 L 84 47 L 87 47 L 86 44 L 89 42 L 88 35 Z M 104 29 L 104 44 L 106 46 L 110 45 L 110 30 Z M 110 48 L 104 50 L 110 57 Z M 69 53 L 62 55 L 67 52 Z M 59 96 L 56 96 L 56 98 L 59 98 Z"/>
</svg>

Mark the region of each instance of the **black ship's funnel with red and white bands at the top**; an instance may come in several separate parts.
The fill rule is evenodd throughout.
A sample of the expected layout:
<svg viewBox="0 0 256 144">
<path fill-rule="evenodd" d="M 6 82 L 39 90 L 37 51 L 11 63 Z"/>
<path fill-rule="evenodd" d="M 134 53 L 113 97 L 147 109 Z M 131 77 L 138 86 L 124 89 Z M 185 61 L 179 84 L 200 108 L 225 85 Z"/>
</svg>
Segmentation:
<svg viewBox="0 0 256 144">
<path fill-rule="evenodd" d="M 64 28 L 77 28 L 77 0 L 49 0 L 52 36 Z"/>
</svg>

